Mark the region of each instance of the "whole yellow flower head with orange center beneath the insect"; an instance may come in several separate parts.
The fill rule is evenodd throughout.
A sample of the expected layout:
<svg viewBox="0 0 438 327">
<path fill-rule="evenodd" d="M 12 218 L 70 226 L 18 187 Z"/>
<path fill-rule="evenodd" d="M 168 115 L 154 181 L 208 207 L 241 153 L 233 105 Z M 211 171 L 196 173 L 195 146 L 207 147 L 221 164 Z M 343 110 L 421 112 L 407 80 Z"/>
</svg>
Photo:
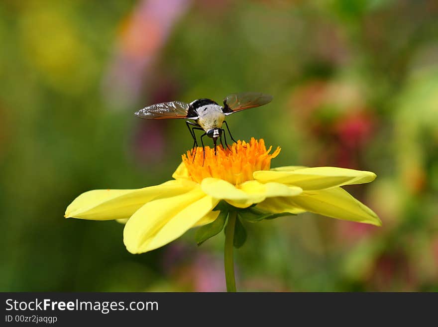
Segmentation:
<svg viewBox="0 0 438 327">
<path fill-rule="evenodd" d="M 270 154 L 263 139 L 238 141 L 231 149 L 197 148 L 182 156 L 182 163 L 166 183 L 137 190 L 94 190 L 71 203 L 66 218 L 127 219 L 123 241 L 131 253 L 163 246 L 188 229 L 218 218 L 219 201 L 257 213 L 316 214 L 381 225 L 368 207 L 341 186 L 369 183 L 368 171 L 336 167 L 288 166 L 270 169 Z M 255 205 L 255 207 L 253 206 Z"/>
</svg>

